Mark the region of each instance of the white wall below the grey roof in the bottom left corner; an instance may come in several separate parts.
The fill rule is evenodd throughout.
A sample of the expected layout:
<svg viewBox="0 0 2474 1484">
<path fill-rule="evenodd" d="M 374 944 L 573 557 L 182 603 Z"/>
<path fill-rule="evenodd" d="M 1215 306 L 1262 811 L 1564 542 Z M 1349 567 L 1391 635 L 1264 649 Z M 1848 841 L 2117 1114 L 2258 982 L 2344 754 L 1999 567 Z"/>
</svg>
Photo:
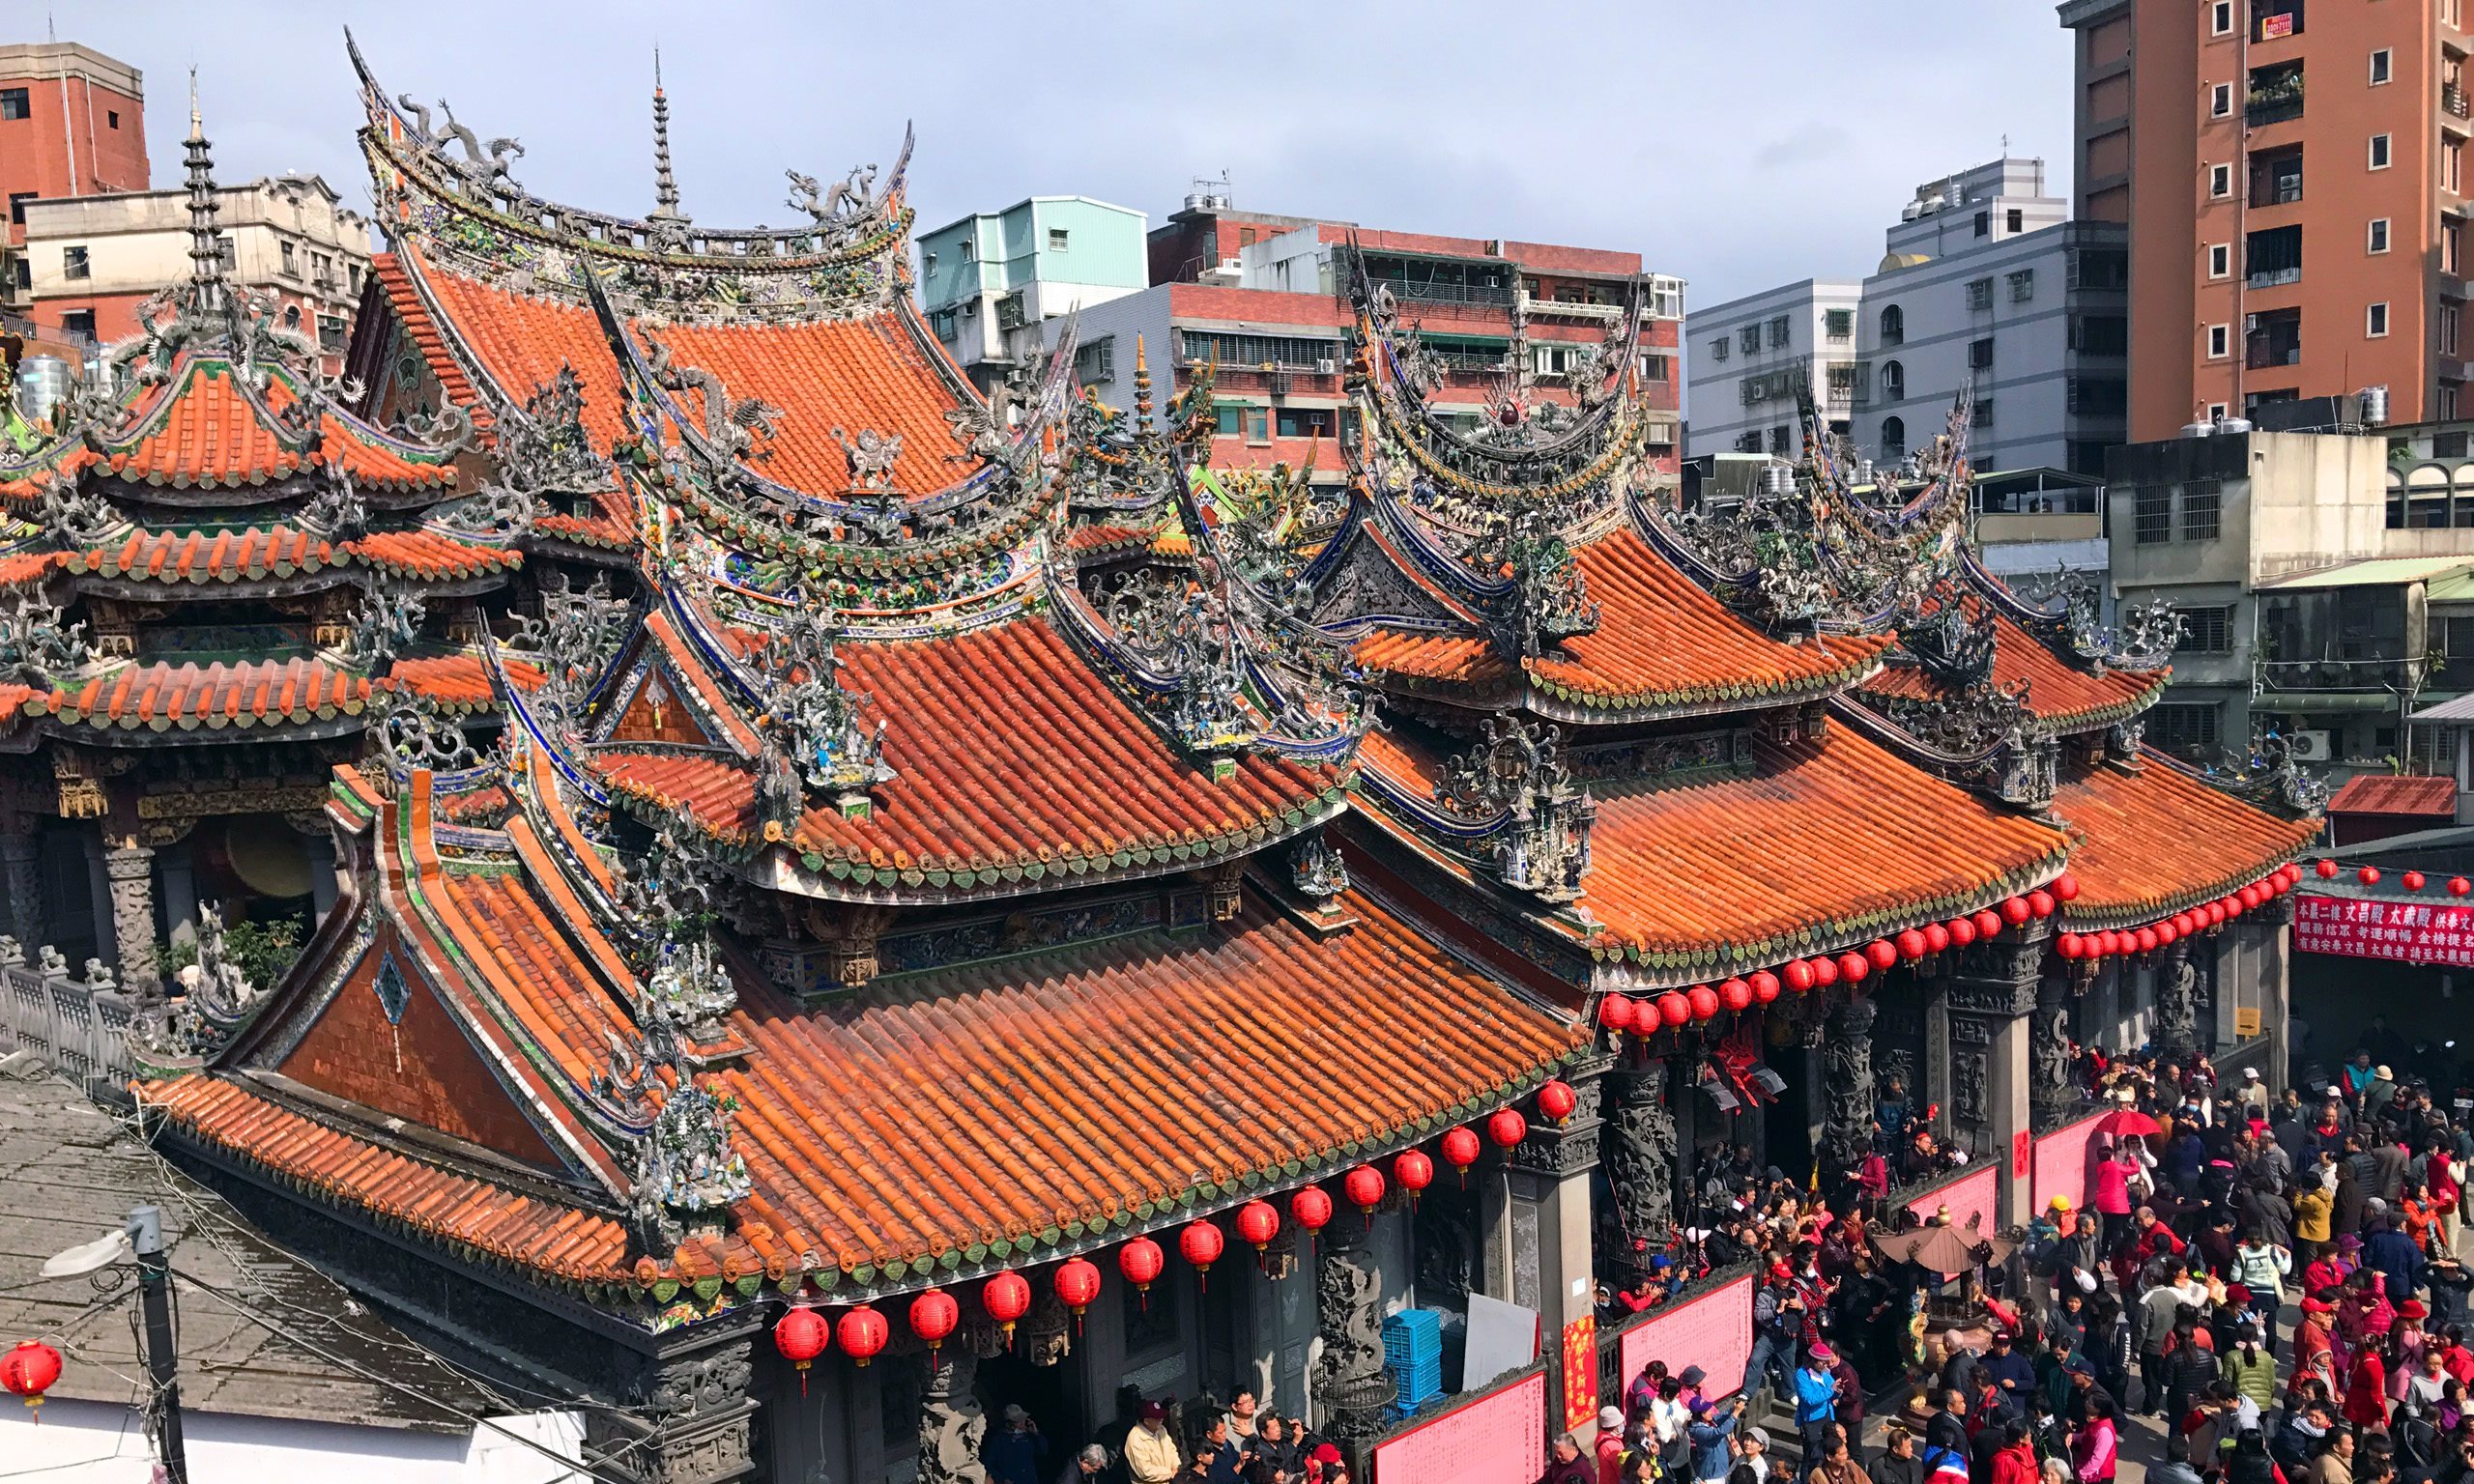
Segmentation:
<svg viewBox="0 0 2474 1484">
<path fill-rule="evenodd" d="M 468 1435 L 408 1427 L 354 1427 L 183 1412 L 188 1477 L 198 1484 L 589 1484 L 591 1474 L 559 1467 L 510 1437 L 579 1459 L 584 1420 L 576 1412 L 495 1417 Z M 45 1484 L 148 1484 L 153 1452 L 134 1407 L 52 1400 L 35 1412 L 0 1410 L 0 1474 L 37 1474 Z"/>
</svg>

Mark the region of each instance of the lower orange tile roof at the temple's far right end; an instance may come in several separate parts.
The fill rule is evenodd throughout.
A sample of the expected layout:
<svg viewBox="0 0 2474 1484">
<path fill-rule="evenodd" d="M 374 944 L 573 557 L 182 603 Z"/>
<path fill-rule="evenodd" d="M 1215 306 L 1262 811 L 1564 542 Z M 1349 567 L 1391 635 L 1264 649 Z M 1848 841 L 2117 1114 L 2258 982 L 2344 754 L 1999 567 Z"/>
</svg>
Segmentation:
<svg viewBox="0 0 2474 1484">
<path fill-rule="evenodd" d="M 2291 861 L 2318 824 L 2232 799 L 2150 752 L 2140 772 L 2066 777 L 2053 814 L 2071 826 L 2071 927 L 2147 923 L 2207 903 Z"/>
</svg>

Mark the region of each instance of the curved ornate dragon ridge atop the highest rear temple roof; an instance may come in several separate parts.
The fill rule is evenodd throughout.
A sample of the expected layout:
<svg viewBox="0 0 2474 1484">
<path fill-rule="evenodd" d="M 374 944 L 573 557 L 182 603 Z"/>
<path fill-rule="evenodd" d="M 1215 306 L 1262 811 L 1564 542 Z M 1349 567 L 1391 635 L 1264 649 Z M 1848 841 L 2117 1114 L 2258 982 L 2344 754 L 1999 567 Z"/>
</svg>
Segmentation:
<svg viewBox="0 0 2474 1484">
<path fill-rule="evenodd" d="M 381 223 L 391 235 L 421 237 L 460 272 L 569 299 L 581 299 L 599 272 L 631 304 L 720 322 L 868 314 L 908 289 L 908 131 L 886 173 L 863 166 L 819 188 L 792 171 L 789 205 L 807 215 L 799 228 L 695 228 L 668 200 L 653 218 L 618 218 L 527 193 L 512 176 L 522 143 L 480 139 L 445 101 L 433 114 L 411 94 L 388 96 L 349 32 L 346 47 L 361 79 L 361 151 Z"/>
</svg>

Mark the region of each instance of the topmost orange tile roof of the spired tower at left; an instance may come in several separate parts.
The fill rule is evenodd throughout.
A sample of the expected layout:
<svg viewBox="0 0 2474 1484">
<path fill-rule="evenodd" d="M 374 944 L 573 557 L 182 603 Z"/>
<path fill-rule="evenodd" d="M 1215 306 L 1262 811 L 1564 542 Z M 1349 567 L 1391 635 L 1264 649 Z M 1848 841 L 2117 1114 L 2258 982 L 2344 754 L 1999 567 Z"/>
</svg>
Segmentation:
<svg viewBox="0 0 2474 1484">
<path fill-rule="evenodd" d="M 178 381 L 163 393 L 168 401 L 148 406 L 136 440 L 114 448 L 106 467 L 146 485 L 225 487 L 265 485 L 285 480 L 304 467 L 304 455 L 287 448 L 265 425 L 257 408 L 233 386 L 233 369 L 223 361 L 188 361 Z M 267 386 L 267 403 L 287 408 L 299 396 L 282 381 Z M 364 433 L 329 413 L 322 420 L 322 438 L 314 460 L 341 467 L 361 485 L 388 490 L 448 490 L 455 485 L 453 463 L 418 463 L 371 443 Z"/>
</svg>

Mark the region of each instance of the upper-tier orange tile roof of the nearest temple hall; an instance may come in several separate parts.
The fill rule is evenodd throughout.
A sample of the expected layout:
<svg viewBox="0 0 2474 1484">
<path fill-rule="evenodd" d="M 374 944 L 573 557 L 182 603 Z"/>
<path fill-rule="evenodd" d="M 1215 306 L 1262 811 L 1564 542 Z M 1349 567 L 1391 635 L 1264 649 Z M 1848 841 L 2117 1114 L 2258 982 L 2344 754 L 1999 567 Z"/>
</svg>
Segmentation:
<svg viewBox="0 0 2474 1484">
<path fill-rule="evenodd" d="M 955 638 L 846 641 L 836 653 L 844 685 L 886 720 L 883 757 L 896 769 L 866 819 L 809 809 L 799 821 L 792 843 L 836 866 L 928 873 L 943 888 L 957 873 L 992 883 L 1027 863 L 1200 861 L 1291 834 L 1338 799 L 1338 769 L 1264 754 L 1212 782 L 1044 618 Z M 621 794 L 757 843 L 755 774 L 735 762 L 626 744 L 589 762 Z"/>
</svg>

